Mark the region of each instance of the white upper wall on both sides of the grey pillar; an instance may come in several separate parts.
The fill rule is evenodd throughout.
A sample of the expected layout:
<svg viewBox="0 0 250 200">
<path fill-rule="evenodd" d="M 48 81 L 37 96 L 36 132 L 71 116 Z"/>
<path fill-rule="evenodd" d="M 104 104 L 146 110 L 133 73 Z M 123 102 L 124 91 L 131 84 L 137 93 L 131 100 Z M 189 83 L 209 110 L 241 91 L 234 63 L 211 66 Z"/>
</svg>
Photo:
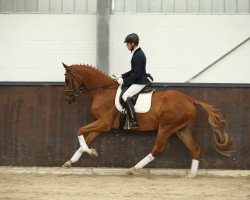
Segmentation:
<svg viewBox="0 0 250 200">
<path fill-rule="evenodd" d="M 250 15 L 114 14 L 110 75 L 130 69 L 131 32 L 155 81 L 185 82 L 250 36 Z M 0 81 L 64 81 L 61 62 L 96 65 L 95 15 L 0 15 Z M 250 41 L 194 82 L 250 83 Z"/>
</svg>

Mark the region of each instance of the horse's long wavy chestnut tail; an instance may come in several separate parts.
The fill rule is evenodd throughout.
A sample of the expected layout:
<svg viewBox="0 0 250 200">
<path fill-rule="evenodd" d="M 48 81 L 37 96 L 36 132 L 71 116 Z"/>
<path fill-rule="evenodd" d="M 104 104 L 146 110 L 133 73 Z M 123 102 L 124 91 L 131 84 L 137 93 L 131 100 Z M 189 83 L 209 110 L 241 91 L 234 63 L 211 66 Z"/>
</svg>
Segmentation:
<svg viewBox="0 0 250 200">
<path fill-rule="evenodd" d="M 213 129 L 216 150 L 223 155 L 231 156 L 235 151 L 235 146 L 225 131 L 226 121 L 224 117 L 219 110 L 212 105 L 199 100 L 194 100 L 194 104 L 201 106 L 208 113 L 208 122 Z"/>
</svg>

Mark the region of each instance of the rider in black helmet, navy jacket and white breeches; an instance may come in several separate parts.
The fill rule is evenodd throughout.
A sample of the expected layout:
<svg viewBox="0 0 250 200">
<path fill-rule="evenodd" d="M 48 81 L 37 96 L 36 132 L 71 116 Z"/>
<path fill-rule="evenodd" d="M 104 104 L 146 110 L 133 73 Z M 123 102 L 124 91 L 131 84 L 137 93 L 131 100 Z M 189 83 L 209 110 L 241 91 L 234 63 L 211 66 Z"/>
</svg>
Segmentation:
<svg viewBox="0 0 250 200">
<path fill-rule="evenodd" d="M 146 73 L 146 56 L 142 49 L 139 47 L 139 37 L 136 33 L 129 34 L 124 43 L 129 51 L 131 51 L 131 70 L 118 77 L 117 82 L 121 85 L 129 86 L 127 91 L 122 95 L 122 99 L 125 102 L 126 109 L 129 116 L 129 127 L 138 128 L 136 121 L 134 105 L 131 101 L 131 97 L 139 93 L 149 82 Z M 151 76 L 149 76 L 152 78 Z"/>
</svg>

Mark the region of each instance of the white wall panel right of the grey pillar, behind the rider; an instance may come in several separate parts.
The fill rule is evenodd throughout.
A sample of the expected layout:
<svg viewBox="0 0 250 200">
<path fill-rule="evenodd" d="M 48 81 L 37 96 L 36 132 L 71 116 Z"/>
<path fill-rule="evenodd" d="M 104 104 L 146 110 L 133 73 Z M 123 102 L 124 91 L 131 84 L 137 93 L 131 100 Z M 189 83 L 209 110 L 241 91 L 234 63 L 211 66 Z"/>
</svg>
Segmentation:
<svg viewBox="0 0 250 200">
<path fill-rule="evenodd" d="M 185 82 L 250 37 L 250 15 L 112 15 L 110 74 L 130 68 L 123 44 L 136 32 L 157 82 Z M 193 82 L 250 83 L 250 41 Z"/>
</svg>

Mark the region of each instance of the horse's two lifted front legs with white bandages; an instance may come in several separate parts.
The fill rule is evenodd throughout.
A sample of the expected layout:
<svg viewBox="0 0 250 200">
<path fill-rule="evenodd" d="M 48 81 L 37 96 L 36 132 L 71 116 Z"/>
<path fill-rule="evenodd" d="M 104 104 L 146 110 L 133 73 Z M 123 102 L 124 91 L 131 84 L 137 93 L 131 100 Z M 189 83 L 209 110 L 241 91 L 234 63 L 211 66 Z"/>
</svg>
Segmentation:
<svg viewBox="0 0 250 200">
<path fill-rule="evenodd" d="M 101 131 L 108 131 L 110 128 L 107 127 L 101 120 L 97 120 L 91 124 L 83 126 L 78 129 L 77 136 L 80 143 L 79 149 L 75 152 L 70 160 L 65 162 L 62 167 L 70 168 L 72 163 L 77 162 L 83 152 L 87 152 L 91 156 L 97 157 L 98 154 L 95 149 L 89 149 L 88 144 L 90 144 L 99 134 Z M 86 141 L 83 137 L 83 134 L 86 132 L 90 132 L 86 138 Z"/>
</svg>

